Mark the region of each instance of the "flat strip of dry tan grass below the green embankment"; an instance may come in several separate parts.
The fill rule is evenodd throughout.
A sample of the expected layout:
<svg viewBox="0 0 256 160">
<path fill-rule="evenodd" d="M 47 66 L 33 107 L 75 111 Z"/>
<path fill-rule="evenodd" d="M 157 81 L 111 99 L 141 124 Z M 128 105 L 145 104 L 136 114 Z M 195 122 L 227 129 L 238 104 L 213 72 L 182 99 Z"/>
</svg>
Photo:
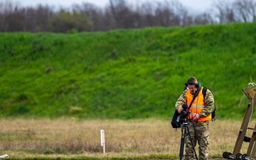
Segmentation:
<svg viewBox="0 0 256 160">
<path fill-rule="evenodd" d="M 234 120 L 210 122 L 211 157 L 220 157 L 223 151 L 233 152 L 240 125 Z M 0 119 L 0 127 L 0 154 L 17 159 L 147 154 L 177 158 L 181 140 L 181 129 L 173 129 L 169 120 L 160 119 Z M 100 146 L 100 129 L 105 129 L 105 155 Z M 241 153 L 245 154 L 246 149 L 247 144 Z"/>
</svg>

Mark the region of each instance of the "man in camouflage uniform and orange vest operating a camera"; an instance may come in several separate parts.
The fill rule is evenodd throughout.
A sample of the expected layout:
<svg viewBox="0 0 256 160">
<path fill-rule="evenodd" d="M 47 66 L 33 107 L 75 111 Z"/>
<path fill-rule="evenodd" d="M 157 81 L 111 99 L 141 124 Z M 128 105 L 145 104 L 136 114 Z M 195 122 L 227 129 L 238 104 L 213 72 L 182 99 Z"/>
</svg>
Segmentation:
<svg viewBox="0 0 256 160">
<path fill-rule="evenodd" d="M 191 105 L 188 115 L 188 129 L 191 134 L 193 146 L 196 146 L 198 142 L 199 159 L 208 159 L 208 144 L 209 144 L 209 120 L 211 119 L 211 112 L 214 110 L 214 98 L 210 90 L 206 90 L 206 96 L 203 97 L 201 84 L 197 82 L 196 78 L 188 78 L 188 82 L 185 83 L 187 89 L 178 98 L 176 102 L 176 110 L 180 113 L 183 108 L 183 104 Z M 193 97 L 198 90 L 198 95 L 195 100 Z M 193 103 L 191 104 L 193 100 Z M 193 146 L 188 136 L 186 136 L 186 149 L 185 159 L 193 159 Z"/>
</svg>

